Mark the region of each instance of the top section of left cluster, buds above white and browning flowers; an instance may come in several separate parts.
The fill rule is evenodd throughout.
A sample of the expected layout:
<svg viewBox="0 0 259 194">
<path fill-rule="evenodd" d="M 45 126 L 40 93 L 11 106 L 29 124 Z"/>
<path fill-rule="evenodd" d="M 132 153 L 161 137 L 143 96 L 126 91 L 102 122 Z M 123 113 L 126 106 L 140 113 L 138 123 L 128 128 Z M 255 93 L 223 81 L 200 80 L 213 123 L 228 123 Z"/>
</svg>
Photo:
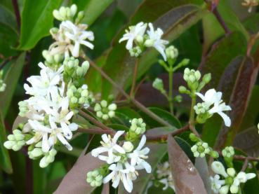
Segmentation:
<svg viewBox="0 0 259 194">
<path fill-rule="evenodd" d="M 65 53 L 65 57 L 68 57 L 71 53 L 73 57 L 79 57 L 80 45 L 93 49 L 93 44 L 89 42 L 94 40 L 93 32 L 86 31 L 88 25 L 79 23 L 84 18 L 84 12 L 77 14 L 76 5 L 61 7 L 53 11 L 53 15 L 61 23 L 59 28 L 51 29 L 51 35 L 55 39 L 55 43 L 49 48 L 51 55 Z"/>
</svg>

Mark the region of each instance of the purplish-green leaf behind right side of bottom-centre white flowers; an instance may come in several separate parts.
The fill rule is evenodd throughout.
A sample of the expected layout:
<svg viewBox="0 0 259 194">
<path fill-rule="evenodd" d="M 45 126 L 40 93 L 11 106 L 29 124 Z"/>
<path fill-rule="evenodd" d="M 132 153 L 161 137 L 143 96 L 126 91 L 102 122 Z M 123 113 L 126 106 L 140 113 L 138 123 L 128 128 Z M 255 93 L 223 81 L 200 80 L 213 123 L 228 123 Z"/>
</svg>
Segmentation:
<svg viewBox="0 0 259 194">
<path fill-rule="evenodd" d="M 147 174 L 147 172 L 145 172 L 145 169 L 139 171 L 138 178 L 135 181 L 133 181 L 133 194 L 144 193 L 147 183 L 152 176 L 152 173 L 157 168 L 157 165 L 160 162 L 160 160 L 164 158 L 164 155 L 166 154 L 166 144 L 148 143 L 147 147 L 150 148 L 150 154 L 147 158 L 147 162 L 150 163 L 152 167 L 152 172 L 150 174 Z M 124 190 L 124 186 L 121 185 L 121 183 L 118 193 L 126 193 L 126 191 Z"/>
</svg>

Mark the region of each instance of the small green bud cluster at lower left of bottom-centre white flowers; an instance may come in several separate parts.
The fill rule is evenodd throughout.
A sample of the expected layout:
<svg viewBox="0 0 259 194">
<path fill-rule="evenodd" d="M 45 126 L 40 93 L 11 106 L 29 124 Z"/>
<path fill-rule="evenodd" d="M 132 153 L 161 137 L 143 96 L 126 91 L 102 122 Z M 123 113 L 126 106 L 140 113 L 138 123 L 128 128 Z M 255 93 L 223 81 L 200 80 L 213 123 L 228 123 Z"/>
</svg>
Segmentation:
<svg viewBox="0 0 259 194">
<path fill-rule="evenodd" d="M 107 166 L 100 167 L 98 169 L 94 169 L 86 174 L 86 182 L 88 182 L 91 186 L 101 186 L 102 179 L 107 175 L 108 169 Z"/>
</svg>

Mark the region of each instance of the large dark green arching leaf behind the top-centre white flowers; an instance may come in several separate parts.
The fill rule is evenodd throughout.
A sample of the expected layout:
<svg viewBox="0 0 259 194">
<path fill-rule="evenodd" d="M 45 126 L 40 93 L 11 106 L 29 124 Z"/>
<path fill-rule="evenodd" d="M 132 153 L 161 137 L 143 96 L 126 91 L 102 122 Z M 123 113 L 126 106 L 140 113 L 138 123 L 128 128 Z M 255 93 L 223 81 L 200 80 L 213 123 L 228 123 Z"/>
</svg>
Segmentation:
<svg viewBox="0 0 259 194">
<path fill-rule="evenodd" d="M 131 18 L 129 25 L 135 25 L 140 20 L 154 22 L 156 27 L 164 30 L 163 39 L 173 41 L 207 13 L 199 6 L 185 5 L 187 3 L 190 1 L 144 1 Z M 109 52 L 104 70 L 115 82 L 126 88 L 131 84 L 135 59 L 130 57 L 124 43 L 118 43 L 123 33 L 124 29 L 115 37 L 114 46 Z M 158 55 L 159 53 L 154 49 L 149 49 L 142 54 L 138 65 L 138 77 L 157 62 Z M 107 82 L 103 83 L 102 88 L 104 96 L 109 95 L 110 92 L 117 94 L 117 91 L 113 90 L 112 85 Z"/>
</svg>

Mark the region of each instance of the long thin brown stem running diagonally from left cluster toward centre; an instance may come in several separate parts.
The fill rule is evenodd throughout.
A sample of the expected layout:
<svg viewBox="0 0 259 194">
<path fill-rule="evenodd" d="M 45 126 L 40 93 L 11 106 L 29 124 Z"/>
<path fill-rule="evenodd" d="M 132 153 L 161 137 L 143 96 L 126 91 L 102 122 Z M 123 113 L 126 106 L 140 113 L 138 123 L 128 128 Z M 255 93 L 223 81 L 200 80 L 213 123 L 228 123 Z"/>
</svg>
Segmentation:
<svg viewBox="0 0 259 194">
<path fill-rule="evenodd" d="M 143 106 L 140 102 L 138 102 L 137 100 L 135 100 L 134 98 L 131 98 L 125 91 L 124 89 L 121 88 L 121 86 L 119 86 L 117 83 L 115 83 L 112 78 L 110 78 L 107 74 L 105 74 L 105 71 L 102 71 L 102 69 L 100 69 L 100 67 L 98 67 L 92 60 L 90 60 L 88 57 L 84 56 L 84 60 L 88 60 L 88 62 L 91 64 L 91 66 L 98 71 L 104 78 L 107 79 L 107 81 L 109 81 L 109 83 L 111 83 L 114 88 L 117 88 L 117 90 L 119 90 L 119 92 L 121 92 L 122 95 L 124 95 L 124 97 L 126 97 L 126 99 L 131 100 L 131 102 L 141 111 L 143 111 L 144 113 L 146 113 L 148 116 L 150 116 L 151 118 L 153 118 L 154 120 L 157 120 L 157 122 L 161 123 L 162 125 L 165 125 L 167 127 L 173 127 L 172 125 L 170 125 L 168 122 L 166 122 L 165 120 L 161 119 L 159 116 L 157 116 L 155 113 L 153 113 L 152 111 L 150 111 L 149 109 L 147 109 L 145 106 Z"/>
</svg>

